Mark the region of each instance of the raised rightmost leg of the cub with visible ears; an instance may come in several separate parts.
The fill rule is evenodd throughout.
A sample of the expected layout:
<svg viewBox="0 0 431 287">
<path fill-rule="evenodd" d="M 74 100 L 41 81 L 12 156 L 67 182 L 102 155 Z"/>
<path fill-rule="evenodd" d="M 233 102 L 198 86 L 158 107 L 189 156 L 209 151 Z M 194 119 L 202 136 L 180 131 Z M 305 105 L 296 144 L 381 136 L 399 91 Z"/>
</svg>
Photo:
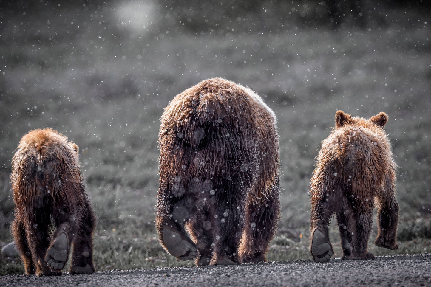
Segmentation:
<svg viewBox="0 0 431 287">
<path fill-rule="evenodd" d="M 397 228 L 400 206 L 395 199 L 395 188 L 392 184 L 386 187 L 387 192 L 380 192 L 378 199 L 377 226 L 378 235 L 375 246 L 397 250 Z"/>
</svg>

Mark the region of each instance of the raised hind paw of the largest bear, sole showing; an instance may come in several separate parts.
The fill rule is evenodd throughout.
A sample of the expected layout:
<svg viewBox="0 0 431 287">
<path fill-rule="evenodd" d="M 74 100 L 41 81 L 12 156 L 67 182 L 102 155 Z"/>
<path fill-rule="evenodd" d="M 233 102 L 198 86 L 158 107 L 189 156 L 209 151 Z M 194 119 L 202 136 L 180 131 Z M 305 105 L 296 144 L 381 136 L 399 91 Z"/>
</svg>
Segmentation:
<svg viewBox="0 0 431 287">
<path fill-rule="evenodd" d="M 162 231 L 163 242 L 169 254 L 180 260 L 199 259 L 199 252 L 195 244 L 191 244 L 181 238 L 181 234 L 163 229 Z"/>
</svg>

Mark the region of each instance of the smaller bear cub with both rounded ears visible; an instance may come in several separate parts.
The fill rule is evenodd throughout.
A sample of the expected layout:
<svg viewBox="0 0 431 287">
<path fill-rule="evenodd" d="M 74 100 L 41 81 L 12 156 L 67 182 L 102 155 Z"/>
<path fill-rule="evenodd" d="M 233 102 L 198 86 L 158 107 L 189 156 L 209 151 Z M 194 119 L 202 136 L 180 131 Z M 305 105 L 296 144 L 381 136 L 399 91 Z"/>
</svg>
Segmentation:
<svg viewBox="0 0 431 287">
<path fill-rule="evenodd" d="M 384 112 L 370 119 L 335 114 L 335 128 L 322 141 L 310 182 L 311 254 L 327 262 L 334 251 L 328 223 L 335 213 L 344 260 L 374 259 L 368 250 L 374 201 L 378 207 L 375 245 L 398 249 L 399 206 L 395 199 L 395 172 L 390 143 L 383 127 Z"/>
</svg>

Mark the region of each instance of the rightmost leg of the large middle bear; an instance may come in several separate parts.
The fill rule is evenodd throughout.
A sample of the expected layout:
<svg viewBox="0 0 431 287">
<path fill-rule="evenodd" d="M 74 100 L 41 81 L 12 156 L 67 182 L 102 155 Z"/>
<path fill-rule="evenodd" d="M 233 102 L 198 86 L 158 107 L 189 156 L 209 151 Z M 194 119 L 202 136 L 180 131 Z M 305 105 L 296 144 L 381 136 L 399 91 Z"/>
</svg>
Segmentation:
<svg viewBox="0 0 431 287">
<path fill-rule="evenodd" d="M 241 239 L 242 262 L 266 262 L 269 241 L 274 237 L 280 216 L 280 195 L 277 185 L 265 192 L 267 199 L 254 198 L 246 210 L 246 222 Z M 257 202 L 257 203 L 256 203 Z"/>
</svg>

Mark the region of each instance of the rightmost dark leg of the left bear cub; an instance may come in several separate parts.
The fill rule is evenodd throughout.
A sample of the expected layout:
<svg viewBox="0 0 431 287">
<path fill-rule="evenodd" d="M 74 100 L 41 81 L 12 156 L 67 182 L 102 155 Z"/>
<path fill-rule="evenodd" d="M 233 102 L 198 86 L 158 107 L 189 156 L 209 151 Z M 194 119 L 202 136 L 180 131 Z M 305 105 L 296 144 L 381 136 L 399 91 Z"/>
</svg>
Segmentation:
<svg viewBox="0 0 431 287">
<path fill-rule="evenodd" d="M 91 274 L 95 271 L 93 265 L 93 232 L 96 226 L 94 213 L 86 203 L 84 214 L 81 215 L 83 225 L 77 226 L 77 235 L 73 239 L 72 262 L 70 274 Z"/>
</svg>

